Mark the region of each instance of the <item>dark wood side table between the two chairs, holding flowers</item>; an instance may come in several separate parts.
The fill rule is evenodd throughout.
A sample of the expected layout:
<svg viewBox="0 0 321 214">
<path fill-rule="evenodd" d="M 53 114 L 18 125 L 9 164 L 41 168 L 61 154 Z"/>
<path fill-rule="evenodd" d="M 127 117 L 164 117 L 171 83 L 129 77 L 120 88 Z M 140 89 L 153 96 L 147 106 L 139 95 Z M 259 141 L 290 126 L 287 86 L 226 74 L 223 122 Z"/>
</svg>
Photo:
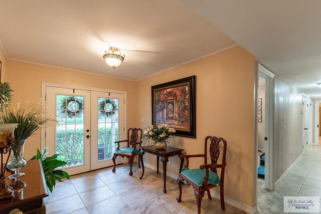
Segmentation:
<svg viewBox="0 0 321 214">
<path fill-rule="evenodd" d="M 184 149 L 180 149 L 180 148 L 175 148 L 175 147 L 171 147 L 168 146 L 166 147 L 166 149 L 154 149 L 153 145 L 148 145 L 148 146 L 141 146 L 142 149 L 142 154 L 140 155 L 140 161 L 143 165 L 143 161 L 142 161 L 142 156 L 143 154 L 149 153 L 149 154 L 153 154 L 156 155 L 156 161 L 157 161 L 157 174 L 159 173 L 158 171 L 158 166 L 159 166 L 159 157 L 162 157 L 161 161 L 163 162 L 163 178 L 164 178 L 164 193 L 166 193 L 166 168 L 167 168 L 167 162 L 169 161 L 169 157 L 174 156 L 174 155 L 178 155 L 180 157 L 180 155 L 182 154 L 182 151 L 184 151 Z M 183 168 L 183 163 L 181 161 L 180 164 L 180 172 Z M 141 177 L 139 177 L 140 179 L 142 178 L 142 176 L 144 175 L 144 167 L 142 167 L 142 174 Z"/>
</svg>

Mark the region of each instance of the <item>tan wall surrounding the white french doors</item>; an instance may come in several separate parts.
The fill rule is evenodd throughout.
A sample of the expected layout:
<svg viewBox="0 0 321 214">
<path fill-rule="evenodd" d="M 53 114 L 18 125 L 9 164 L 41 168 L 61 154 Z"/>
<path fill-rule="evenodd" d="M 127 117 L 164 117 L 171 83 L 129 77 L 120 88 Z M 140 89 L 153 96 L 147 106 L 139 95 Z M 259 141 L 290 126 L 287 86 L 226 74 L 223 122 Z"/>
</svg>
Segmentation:
<svg viewBox="0 0 321 214">
<path fill-rule="evenodd" d="M 5 72 L 4 80 L 11 83 L 13 103 L 37 103 L 41 98 L 41 83 L 50 82 L 65 85 L 102 88 L 127 92 L 127 127 L 135 122 L 136 112 L 136 82 L 110 78 L 101 75 L 75 72 L 65 69 L 35 65 L 30 63 L 7 61 L 9 71 Z M 108 68 L 106 68 L 108 69 Z M 36 154 L 36 148 L 41 147 L 40 134 L 28 138 L 25 146 L 25 157 L 31 158 Z"/>
</svg>

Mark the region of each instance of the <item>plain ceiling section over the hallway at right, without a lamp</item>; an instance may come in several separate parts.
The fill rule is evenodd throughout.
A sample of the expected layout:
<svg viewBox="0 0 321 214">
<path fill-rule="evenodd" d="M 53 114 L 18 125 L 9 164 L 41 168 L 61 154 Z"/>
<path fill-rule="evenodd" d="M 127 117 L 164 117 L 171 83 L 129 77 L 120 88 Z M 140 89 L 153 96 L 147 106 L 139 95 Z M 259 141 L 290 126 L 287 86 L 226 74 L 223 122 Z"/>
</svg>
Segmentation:
<svg viewBox="0 0 321 214">
<path fill-rule="evenodd" d="M 321 98 L 321 1 L 182 1 L 276 75 Z"/>
</svg>

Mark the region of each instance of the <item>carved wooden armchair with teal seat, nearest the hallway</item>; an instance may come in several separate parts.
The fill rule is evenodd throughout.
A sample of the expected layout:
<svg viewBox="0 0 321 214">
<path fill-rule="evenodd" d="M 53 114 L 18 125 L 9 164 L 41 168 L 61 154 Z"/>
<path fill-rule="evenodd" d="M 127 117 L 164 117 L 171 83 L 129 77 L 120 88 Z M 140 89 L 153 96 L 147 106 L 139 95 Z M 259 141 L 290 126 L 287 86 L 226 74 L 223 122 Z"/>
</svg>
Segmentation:
<svg viewBox="0 0 321 214">
<path fill-rule="evenodd" d="M 207 164 L 208 141 L 210 141 L 211 164 Z M 222 144 L 222 146 L 220 146 L 220 144 Z M 182 201 L 182 182 L 185 180 L 194 188 L 198 213 L 201 213 L 201 203 L 205 191 L 207 191 L 209 199 L 212 200 L 210 189 L 216 186 L 220 186 L 221 208 L 225 210 L 224 171 L 226 167 L 226 146 L 226 141 L 223 138 L 207 136 L 205 138 L 204 154 L 181 155 L 182 161 L 186 158 L 186 165 L 182 172 L 179 173 L 179 177 L 177 179 L 180 189 L 180 195 L 176 198 L 178 202 Z M 222 163 L 218 164 L 217 161 L 219 159 L 221 149 L 223 149 Z M 204 164 L 201 165 L 199 169 L 189 169 L 189 158 L 191 157 L 204 157 Z M 217 168 L 221 168 L 221 177 L 217 174 Z"/>
</svg>

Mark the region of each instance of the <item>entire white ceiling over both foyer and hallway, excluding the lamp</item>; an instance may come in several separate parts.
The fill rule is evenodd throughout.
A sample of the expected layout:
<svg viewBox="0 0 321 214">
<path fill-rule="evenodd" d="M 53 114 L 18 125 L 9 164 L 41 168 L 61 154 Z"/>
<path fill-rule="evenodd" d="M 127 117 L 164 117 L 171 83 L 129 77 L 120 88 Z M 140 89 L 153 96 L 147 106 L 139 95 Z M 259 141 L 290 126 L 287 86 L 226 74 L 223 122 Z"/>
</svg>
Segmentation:
<svg viewBox="0 0 321 214">
<path fill-rule="evenodd" d="M 0 42 L 9 59 L 138 80 L 237 42 L 321 98 L 319 0 L 0 0 L 0 6 Z M 109 46 L 125 54 L 116 69 L 102 58 Z"/>
</svg>

